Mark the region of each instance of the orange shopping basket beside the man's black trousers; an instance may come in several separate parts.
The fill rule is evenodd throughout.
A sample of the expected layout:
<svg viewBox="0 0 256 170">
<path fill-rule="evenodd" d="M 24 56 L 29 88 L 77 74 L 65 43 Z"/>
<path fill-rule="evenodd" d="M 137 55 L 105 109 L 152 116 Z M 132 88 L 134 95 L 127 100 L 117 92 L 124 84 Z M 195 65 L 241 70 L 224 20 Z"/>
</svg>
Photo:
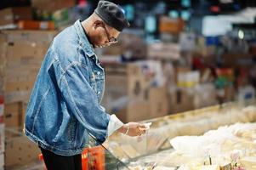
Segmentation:
<svg viewBox="0 0 256 170">
<path fill-rule="evenodd" d="M 39 160 L 43 161 L 43 154 L 39 155 Z M 105 150 L 102 146 L 83 150 L 82 170 L 105 170 Z"/>
</svg>

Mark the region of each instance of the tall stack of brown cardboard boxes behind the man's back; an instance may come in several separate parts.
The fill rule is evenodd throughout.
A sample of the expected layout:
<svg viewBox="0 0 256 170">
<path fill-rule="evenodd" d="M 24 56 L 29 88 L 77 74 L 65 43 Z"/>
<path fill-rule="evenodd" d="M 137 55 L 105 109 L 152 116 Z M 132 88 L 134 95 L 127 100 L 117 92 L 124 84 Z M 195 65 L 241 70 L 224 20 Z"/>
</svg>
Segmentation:
<svg viewBox="0 0 256 170">
<path fill-rule="evenodd" d="M 7 127 L 21 128 L 26 103 L 55 31 L 3 31 L 1 82 Z"/>
</svg>

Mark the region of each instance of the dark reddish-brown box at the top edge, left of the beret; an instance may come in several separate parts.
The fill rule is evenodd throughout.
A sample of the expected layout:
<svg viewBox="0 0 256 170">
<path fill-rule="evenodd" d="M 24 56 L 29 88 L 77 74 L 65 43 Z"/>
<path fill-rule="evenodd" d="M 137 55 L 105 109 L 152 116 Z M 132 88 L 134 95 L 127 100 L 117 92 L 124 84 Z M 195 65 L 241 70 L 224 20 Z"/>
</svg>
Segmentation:
<svg viewBox="0 0 256 170">
<path fill-rule="evenodd" d="M 75 6 L 76 1 L 75 0 L 32 0 L 31 5 L 34 8 L 48 11 L 48 12 L 54 12 L 55 10 L 58 10 L 60 8 L 70 8 Z"/>
</svg>

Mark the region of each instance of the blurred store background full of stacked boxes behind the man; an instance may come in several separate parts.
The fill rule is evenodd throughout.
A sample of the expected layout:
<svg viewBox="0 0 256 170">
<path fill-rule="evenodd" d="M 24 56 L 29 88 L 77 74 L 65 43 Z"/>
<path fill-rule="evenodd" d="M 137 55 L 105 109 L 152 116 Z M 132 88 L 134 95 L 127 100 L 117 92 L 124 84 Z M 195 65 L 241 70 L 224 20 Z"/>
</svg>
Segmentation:
<svg viewBox="0 0 256 170">
<path fill-rule="evenodd" d="M 21 131 L 37 71 L 54 36 L 98 2 L 1 0 L 0 169 L 30 169 L 38 159 Z M 255 0 L 111 2 L 131 27 L 96 54 L 105 68 L 102 105 L 122 122 L 255 99 Z"/>
</svg>

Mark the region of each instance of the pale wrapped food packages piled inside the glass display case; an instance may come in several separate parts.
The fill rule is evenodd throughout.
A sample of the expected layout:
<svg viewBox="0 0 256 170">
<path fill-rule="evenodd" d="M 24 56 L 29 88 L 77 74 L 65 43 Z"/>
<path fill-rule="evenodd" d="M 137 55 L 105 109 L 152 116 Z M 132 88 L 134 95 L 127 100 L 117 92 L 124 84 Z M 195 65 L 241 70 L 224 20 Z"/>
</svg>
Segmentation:
<svg viewBox="0 0 256 170">
<path fill-rule="evenodd" d="M 175 167 L 229 170 L 230 162 L 240 158 L 247 169 L 255 168 L 253 161 L 244 159 L 256 156 L 255 105 L 192 111 L 184 116 L 165 116 L 154 121 L 139 138 L 119 134 L 109 141 L 111 151 L 117 153 L 118 158 L 136 160 L 132 169 L 151 169 L 157 162 L 154 170 Z M 161 149 L 168 150 L 162 154 Z M 211 166 L 206 163 L 207 156 L 211 156 Z"/>
</svg>

